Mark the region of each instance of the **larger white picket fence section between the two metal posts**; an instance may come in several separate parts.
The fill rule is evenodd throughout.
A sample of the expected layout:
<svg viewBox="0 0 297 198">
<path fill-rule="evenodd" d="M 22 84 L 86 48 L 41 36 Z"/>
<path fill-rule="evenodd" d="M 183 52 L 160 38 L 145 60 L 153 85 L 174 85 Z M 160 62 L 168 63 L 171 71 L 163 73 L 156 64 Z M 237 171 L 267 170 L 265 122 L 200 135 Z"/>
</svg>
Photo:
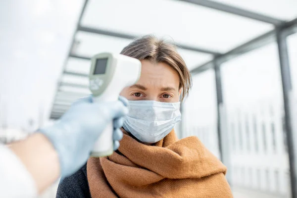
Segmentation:
<svg viewBox="0 0 297 198">
<path fill-rule="evenodd" d="M 290 192 L 283 109 L 277 99 L 227 107 L 234 185 L 280 195 Z"/>
</svg>

